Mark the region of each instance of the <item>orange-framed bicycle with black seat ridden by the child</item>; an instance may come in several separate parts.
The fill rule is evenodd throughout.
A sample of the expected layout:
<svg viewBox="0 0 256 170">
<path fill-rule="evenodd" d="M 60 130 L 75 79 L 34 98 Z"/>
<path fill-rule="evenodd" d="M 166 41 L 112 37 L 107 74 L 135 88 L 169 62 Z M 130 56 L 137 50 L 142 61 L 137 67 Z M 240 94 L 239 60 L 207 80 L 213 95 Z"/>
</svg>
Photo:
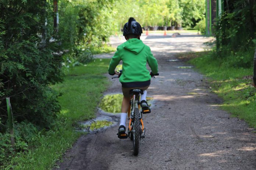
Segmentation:
<svg viewBox="0 0 256 170">
<path fill-rule="evenodd" d="M 118 77 L 122 74 L 122 70 L 119 70 Z M 151 77 L 154 77 L 153 74 L 150 74 Z M 159 75 L 159 74 L 155 74 Z M 112 78 L 112 79 L 113 79 Z M 155 77 L 154 77 L 155 78 Z M 141 139 L 145 138 L 146 128 L 144 127 L 142 121 L 142 113 L 149 113 L 149 110 L 140 111 L 140 97 L 143 95 L 142 89 L 131 89 L 130 94 L 132 94 L 132 99 L 130 101 L 130 106 L 128 109 L 128 118 L 129 118 L 129 126 L 128 126 L 128 134 L 123 134 L 122 138 L 129 138 L 133 141 L 133 154 L 138 155 L 139 153 L 139 145 L 141 144 Z"/>
</svg>

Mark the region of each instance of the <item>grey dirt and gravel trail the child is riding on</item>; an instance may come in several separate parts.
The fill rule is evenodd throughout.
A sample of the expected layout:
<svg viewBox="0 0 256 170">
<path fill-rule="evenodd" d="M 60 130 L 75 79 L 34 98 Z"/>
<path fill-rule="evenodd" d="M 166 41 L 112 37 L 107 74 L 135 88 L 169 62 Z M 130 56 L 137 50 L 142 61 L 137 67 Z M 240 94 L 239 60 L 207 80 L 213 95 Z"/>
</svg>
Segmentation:
<svg viewBox="0 0 256 170">
<path fill-rule="evenodd" d="M 131 140 L 117 138 L 116 125 L 80 137 L 64 155 L 60 169 L 255 170 L 254 129 L 219 109 L 221 100 L 210 93 L 202 75 L 178 69 L 185 63 L 167 61 L 178 52 L 202 50 L 202 42 L 209 38 L 194 34 L 145 38 L 159 62 L 160 76 L 152 79 L 148 90 L 154 103 L 152 113 L 144 116 L 147 130 L 139 155 L 132 155 Z M 121 93 L 118 80 L 107 93 Z"/>
</svg>

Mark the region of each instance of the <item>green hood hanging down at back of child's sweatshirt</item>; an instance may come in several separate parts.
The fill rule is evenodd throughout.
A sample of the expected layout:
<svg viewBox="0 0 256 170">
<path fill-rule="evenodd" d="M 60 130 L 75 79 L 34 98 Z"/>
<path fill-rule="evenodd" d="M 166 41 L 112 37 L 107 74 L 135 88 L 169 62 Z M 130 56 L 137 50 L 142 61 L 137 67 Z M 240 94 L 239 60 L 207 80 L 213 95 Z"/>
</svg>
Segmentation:
<svg viewBox="0 0 256 170">
<path fill-rule="evenodd" d="M 132 38 L 132 39 L 129 39 L 128 41 L 124 42 L 123 47 L 124 47 L 124 49 L 127 49 L 128 51 L 138 54 L 145 47 L 145 44 L 137 38 Z"/>
</svg>

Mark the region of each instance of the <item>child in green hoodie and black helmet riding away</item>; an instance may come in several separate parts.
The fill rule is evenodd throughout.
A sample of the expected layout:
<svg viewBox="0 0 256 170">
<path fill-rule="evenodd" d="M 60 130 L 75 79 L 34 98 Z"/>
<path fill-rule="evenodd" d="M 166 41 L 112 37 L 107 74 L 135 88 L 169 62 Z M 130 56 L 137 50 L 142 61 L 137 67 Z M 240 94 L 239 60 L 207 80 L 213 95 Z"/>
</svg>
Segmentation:
<svg viewBox="0 0 256 170">
<path fill-rule="evenodd" d="M 150 85 L 150 78 L 158 74 L 157 60 L 153 57 L 150 48 L 143 44 L 140 40 L 142 33 L 141 25 L 134 18 L 129 18 L 129 21 L 124 25 L 124 33 L 126 42 L 117 47 L 117 51 L 112 57 L 109 64 L 109 74 L 119 74 L 115 71 L 115 67 L 122 60 L 122 74 L 119 78 L 122 84 L 122 93 L 124 98 L 121 107 L 121 120 L 118 129 L 118 137 L 125 134 L 125 121 L 129 108 L 129 102 L 132 95 L 129 90 L 139 88 L 143 90 L 141 95 L 141 107 L 143 110 L 150 110 L 146 102 L 147 88 Z M 146 68 L 149 64 L 151 73 Z"/>
</svg>

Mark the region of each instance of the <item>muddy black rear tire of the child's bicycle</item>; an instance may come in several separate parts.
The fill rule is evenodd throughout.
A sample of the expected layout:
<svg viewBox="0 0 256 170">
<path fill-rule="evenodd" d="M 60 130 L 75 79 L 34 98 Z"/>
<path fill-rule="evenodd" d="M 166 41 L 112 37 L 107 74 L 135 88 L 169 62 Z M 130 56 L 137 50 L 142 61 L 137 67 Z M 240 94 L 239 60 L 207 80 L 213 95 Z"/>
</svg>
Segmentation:
<svg viewBox="0 0 256 170">
<path fill-rule="evenodd" d="M 139 142 L 141 139 L 141 124 L 139 121 L 139 109 L 138 108 L 134 108 L 134 130 L 135 132 L 133 132 L 133 148 L 134 148 L 134 155 L 138 155 L 139 154 Z"/>
</svg>

